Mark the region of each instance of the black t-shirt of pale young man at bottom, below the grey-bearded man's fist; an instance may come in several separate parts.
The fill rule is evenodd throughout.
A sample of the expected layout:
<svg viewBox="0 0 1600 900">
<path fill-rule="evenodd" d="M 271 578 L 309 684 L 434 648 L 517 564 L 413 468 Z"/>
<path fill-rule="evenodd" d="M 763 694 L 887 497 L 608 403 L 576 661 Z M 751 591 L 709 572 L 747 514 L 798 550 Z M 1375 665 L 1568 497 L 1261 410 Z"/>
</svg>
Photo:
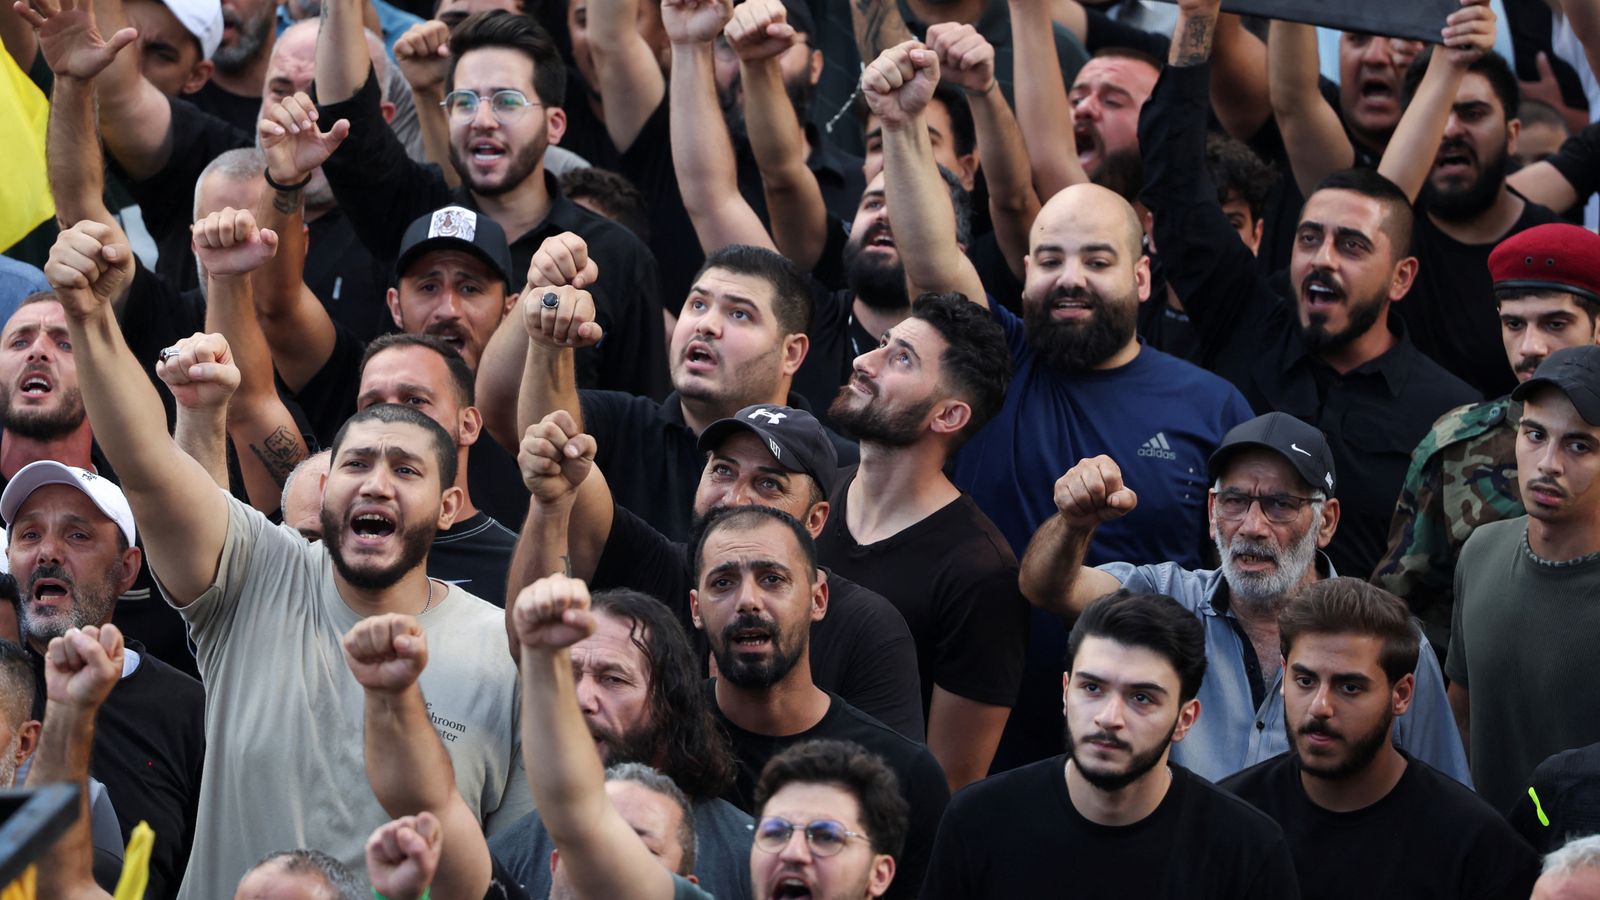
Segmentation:
<svg viewBox="0 0 1600 900">
<path fill-rule="evenodd" d="M 1294 862 L 1270 818 L 1181 765 L 1155 812 L 1096 825 L 1053 756 L 968 785 L 950 799 L 923 900 L 1138 897 L 1294 900 Z"/>
</svg>

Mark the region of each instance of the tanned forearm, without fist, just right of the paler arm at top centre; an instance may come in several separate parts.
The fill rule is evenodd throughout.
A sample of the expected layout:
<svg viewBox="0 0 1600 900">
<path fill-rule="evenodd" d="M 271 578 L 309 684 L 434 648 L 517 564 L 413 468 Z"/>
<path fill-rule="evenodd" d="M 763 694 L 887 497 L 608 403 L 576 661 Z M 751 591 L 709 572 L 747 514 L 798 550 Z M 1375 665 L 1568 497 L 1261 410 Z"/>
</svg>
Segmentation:
<svg viewBox="0 0 1600 900">
<path fill-rule="evenodd" d="M 766 194 L 766 219 L 778 251 L 811 271 L 827 243 L 827 207 L 806 167 L 805 131 L 784 90 L 778 59 L 741 66 L 744 123 Z"/>
</svg>

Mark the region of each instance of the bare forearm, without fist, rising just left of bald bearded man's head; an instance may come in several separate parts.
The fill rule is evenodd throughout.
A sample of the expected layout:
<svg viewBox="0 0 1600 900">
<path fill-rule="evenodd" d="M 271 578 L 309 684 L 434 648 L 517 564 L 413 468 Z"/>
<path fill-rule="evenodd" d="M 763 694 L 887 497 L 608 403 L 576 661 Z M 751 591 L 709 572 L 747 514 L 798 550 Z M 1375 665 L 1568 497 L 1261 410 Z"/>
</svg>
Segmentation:
<svg viewBox="0 0 1600 900">
<path fill-rule="evenodd" d="M 1034 227 L 1040 205 L 1022 130 L 1005 102 L 998 82 L 987 93 L 971 98 L 970 104 L 978 131 L 978 155 L 984 160 L 984 179 L 989 186 L 989 219 L 995 226 L 995 240 L 1006 266 L 1022 279 L 1027 232 Z"/>
</svg>

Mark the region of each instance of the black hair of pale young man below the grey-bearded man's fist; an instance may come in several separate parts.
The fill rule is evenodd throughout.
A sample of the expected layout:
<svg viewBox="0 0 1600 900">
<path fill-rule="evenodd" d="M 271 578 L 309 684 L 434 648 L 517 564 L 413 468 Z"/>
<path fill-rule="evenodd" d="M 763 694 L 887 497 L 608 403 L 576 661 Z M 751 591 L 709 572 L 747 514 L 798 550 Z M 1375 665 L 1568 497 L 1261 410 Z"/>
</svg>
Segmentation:
<svg viewBox="0 0 1600 900">
<path fill-rule="evenodd" d="M 1067 671 L 1085 637 L 1104 637 L 1125 647 L 1154 650 L 1178 673 L 1178 700 L 1200 693 L 1205 679 L 1205 626 L 1195 613 L 1166 594 L 1120 589 L 1090 604 L 1067 637 Z"/>
</svg>

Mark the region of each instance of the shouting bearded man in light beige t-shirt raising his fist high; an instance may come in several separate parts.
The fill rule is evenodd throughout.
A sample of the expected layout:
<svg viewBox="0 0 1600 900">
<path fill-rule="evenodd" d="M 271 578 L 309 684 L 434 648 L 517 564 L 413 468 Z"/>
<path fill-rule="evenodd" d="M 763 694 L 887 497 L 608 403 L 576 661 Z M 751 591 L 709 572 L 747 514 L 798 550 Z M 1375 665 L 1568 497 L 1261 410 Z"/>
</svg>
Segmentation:
<svg viewBox="0 0 1600 900">
<path fill-rule="evenodd" d="M 323 540 L 270 525 L 166 436 L 160 399 L 109 306 L 130 269 L 117 231 L 80 223 L 62 232 L 45 274 L 69 311 L 106 456 L 134 517 L 158 522 L 146 528 L 146 554 L 205 676 L 206 778 L 179 895 L 222 897 L 237 873 L 285 846 L 358 865 L 366 836 L 387 822 L 371 793 L 349 790 L 365 778 L 362 748 L 346 740 L 362 692 L 326 666 L 365 615 L 418 615 L 437 653 L 421 684 L 462 799 L 491 833 L 525 815 L 515 673 L 504 655 L 482 652 L 504 639 L 501 612 L 426 575 L 429 543 L 461 500 L 450 434 L 408 407 L 362 410 L 333 440 Z M 163 362 L 176 368 L 168 381 L 203 378 L 226 352 L 221 338 L 194 341 Z"/>
</svg>

